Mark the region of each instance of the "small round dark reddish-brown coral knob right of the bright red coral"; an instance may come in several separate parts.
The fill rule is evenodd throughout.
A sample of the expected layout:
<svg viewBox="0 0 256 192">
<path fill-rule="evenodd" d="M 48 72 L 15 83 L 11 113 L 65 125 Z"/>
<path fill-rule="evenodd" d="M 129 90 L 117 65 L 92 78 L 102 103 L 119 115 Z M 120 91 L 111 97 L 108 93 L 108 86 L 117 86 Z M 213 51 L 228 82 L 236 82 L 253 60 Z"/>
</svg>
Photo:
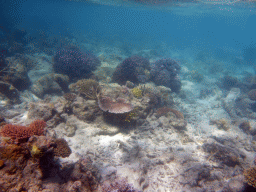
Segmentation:
<svg viewBox="0 0 256 192">
<path fill-rule="evenodd" d="M 57 157 L 68 157 L 71 154 L 71 149 L 65 139 L 56 139 L 56 147 L 54 148 L 54 155 Z"/>
</svg>

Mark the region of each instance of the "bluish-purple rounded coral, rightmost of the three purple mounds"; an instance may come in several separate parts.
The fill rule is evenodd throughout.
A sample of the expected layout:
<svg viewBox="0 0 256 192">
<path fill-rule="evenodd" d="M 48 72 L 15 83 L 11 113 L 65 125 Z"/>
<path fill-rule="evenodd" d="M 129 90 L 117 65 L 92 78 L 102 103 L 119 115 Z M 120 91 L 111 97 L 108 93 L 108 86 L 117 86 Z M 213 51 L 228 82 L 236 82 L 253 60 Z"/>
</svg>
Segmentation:
<svg viewBox="0 0 256 192">
<path fill-rule="evenodd" d="M 156 85 L 163 85 L 179 92 L 181 82 L 179 79 L 180 65 L 173 59 L 159 59 L 151 66 L 151 80 Z"/>
</svg>

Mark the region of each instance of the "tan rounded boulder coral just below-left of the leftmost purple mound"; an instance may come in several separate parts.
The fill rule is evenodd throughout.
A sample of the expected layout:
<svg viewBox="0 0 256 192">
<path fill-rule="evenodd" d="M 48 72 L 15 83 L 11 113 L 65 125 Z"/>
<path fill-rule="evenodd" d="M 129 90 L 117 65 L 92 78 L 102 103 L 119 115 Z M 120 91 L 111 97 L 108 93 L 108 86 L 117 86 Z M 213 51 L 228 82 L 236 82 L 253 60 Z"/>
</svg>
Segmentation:
<svg viewBox="0 0 256 192">
<path fill-rule="evenodd" d="M 63 95 L 69 91 L 68 81 L 67 75 L 47 74 L 33 83 L 31 91 L 40 98 L 43 98 L 45 94 Z"/>
</svg>

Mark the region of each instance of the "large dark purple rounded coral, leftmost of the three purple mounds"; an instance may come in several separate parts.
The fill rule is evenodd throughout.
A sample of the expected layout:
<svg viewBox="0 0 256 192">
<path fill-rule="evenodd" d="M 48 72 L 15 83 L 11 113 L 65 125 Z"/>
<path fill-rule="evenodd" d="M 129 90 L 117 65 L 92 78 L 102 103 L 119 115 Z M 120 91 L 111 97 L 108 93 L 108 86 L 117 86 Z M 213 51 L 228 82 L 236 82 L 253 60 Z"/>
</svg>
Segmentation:
<svg viewBox="0 0 256 192">
<path fill-rule="evenodd" d="M 55 53 L 53 67 L 56 73 L 81 78 L 89 77 L 100 64 L 100 60 L 89 51 L 82 52 L 77 47 L 69 47 Z"/>
</svg>

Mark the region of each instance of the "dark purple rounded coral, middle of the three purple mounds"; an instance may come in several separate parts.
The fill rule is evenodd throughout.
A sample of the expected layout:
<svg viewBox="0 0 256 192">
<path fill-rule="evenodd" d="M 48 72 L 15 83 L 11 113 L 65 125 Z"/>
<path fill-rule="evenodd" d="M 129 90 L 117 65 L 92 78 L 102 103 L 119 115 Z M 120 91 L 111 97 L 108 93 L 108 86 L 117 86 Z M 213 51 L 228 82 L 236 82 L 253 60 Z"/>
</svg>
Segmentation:
<svg viewBox="0 0 256 192">
<path fill-rule="evenodd" d="M 149 60 L 141 56 L 131 56 L 119 64 L 113 73 L 113 81 L 125 85 L 126 81 L 135 84 L 148 81 Z"/>
</svg>

